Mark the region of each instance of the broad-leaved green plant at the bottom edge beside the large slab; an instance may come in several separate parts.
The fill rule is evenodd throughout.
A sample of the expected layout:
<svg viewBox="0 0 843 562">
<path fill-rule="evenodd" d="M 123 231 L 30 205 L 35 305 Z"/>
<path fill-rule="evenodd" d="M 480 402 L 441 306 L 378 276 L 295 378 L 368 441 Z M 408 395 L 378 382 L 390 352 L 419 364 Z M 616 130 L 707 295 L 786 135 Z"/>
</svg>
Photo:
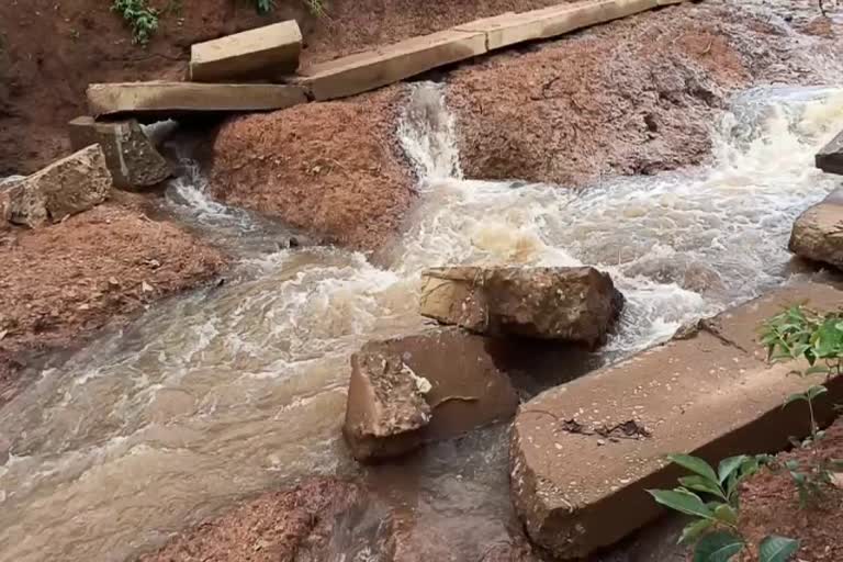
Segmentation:
<svg viewBox="0 0 843 562">
<path fill-rule="evenodd" d="M 672 454 L 671 461 L 689 470 L 673 490 L 650 490 L 661 505 L 694 519 L 685 527 L 681 543 L 695 543 L 694 562 L 728 562 L 746 548 L 738 529 L 740 484 L 768 463 L 769 456 L 730 457 L 717 471 L 705 460 L 689 454 Z M 761 562 L 784 562 L 799 550 L 799 541 L 771 535 L 758 546 Z"/>
</svg>

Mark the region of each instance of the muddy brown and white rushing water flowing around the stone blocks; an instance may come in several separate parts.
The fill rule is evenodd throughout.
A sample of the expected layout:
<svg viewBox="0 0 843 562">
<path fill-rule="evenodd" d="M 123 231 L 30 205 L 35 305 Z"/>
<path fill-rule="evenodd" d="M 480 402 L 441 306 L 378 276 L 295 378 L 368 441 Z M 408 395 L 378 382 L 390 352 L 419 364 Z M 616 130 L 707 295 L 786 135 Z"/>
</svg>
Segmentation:
<svg viewBox="0 0 843 562">
<path fill-rule="evenodd" d="M 843 127 L 843 89 L 749 91 L 723 115 L 711 165 L 584 191 L 462 179 L 456 126 L 438 87 L 414 87 L 400 134 L 420 204 L 380 268 L 285 248 L 290 233 L 213 204 L 195 173 L 175 183 L 173 212 L 252 249 L 225 285 L 156 306 L 0 411 L 0 560 L 123 560 L 245 494 L 355 473 L 338 431 L 348 357 L 420 325 L 425 267 L 608 270 L 628 297 L 612 357 L 782 283 L 794 218 L 839 184 L 812 158 Z M 508 532 L 505 432 L 363 475 L 454 560 L 474 560 Z"/>
</svg>

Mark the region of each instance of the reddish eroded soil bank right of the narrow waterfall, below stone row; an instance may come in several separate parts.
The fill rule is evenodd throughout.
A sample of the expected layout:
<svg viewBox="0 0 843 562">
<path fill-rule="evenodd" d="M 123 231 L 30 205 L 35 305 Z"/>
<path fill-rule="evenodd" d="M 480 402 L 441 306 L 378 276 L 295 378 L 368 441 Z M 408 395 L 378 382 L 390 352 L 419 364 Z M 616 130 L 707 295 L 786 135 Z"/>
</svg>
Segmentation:
<svg viewBox="0 0 843 562">
<path fill-rule="evenodd" d="M 458 69 L 463 169 L 582 186 L 698 164 L 729 92 L 803 72 L 780 33 L 733 7 L 682 4 Z"/>
</svg>

